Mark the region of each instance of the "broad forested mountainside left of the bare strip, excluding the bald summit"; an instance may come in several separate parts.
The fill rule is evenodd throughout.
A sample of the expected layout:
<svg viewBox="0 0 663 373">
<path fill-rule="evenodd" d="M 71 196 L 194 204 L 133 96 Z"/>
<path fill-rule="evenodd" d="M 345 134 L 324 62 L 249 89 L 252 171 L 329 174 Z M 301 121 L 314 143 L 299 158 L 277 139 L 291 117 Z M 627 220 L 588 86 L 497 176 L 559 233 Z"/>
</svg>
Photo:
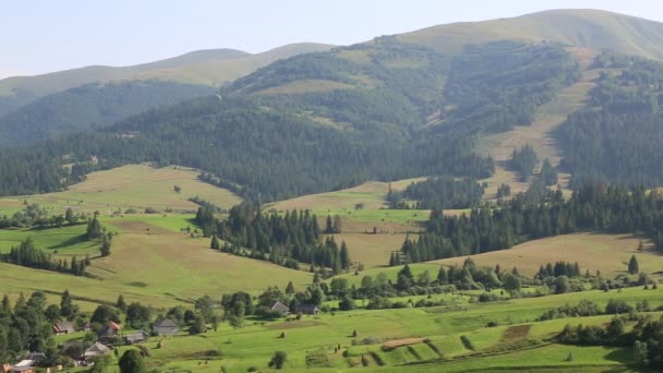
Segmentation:
<svg viewBox="0 0 663 373">
<path fill-rule="evenodd" d="M 26 152 L 32 157 L 45 152 L 44 158 L 55 163 L 75 163 L 71 181 L 95 168 L 128 163 L 191 166 L 242 185 L 238 193 L 263 202 L 366 179 L 485 178 L 493 172 L 492 160 L 473 152 L 482 125 L 460 120 L 442 125 L 451 131 L 425 125 L 431 113 L 443 108 L 462 113 L 445 103 L 444 82 L 457 81 L 454 87 L 462 95 L 456 95 L 454 104 L 471 103 L 480 113 L 475 118 L 484 122 L 491 116 L 513 119 L 509 125 L 490 129 L 502 131 L 528 124 L 530 117 L 501 110 L 493 99 L 508 103 L 507 108 L 534 108 L 570 84 L 577 67 L 564 47 L 555 44 L 491 44 L 468 48 L 458 58 L 471 58 L 478 64 L 485 59 L 490 72 L 463 80 L 458 77 L 465 75 L 455 58 L 382 37 L 370 45 L 279 61 L 231 84 L 222 99 L 212 95 L 152 110 L 98 134 L 47 142 L 37 154 L 34 148 Z M 485 89 L 483 85 L 491 84 L 485 76 L 491 74 L 511 83 Z M 297 93 L 278 93 L 310 80 L 343 84 L 343 88 L 311 91 L 303 85 Z M 68 155 L 65 160 L 63 155 Z M 86 164 L 91 156 L 100 163 Z M 49 175 L 31 184 L 21 183 L 21 177 L 9 178 L 2 191 L 61 188 L 55 173 Z"/>
</svg>

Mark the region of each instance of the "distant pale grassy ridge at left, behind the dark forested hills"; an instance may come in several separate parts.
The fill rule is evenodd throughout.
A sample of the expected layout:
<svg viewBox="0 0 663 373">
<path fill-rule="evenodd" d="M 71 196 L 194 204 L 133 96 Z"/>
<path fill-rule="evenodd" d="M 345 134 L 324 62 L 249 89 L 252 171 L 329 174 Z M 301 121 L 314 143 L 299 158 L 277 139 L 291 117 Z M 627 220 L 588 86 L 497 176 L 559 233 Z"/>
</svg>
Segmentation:
<svg viewBox="0 0 663 373">
<path fill-rule="evenodd" d="M 87 83 L 164 80 L 219 86 L 276 60 L 329 48 L 332 48 L 329 45 L 303 43 L 255 55 L 233 49 L 209 49 L 132 67 L 93 65 L 36 76 L 7 77 L 0 81 L 0 115 L 14 110 L 37 97 Z"/>
</svg>

